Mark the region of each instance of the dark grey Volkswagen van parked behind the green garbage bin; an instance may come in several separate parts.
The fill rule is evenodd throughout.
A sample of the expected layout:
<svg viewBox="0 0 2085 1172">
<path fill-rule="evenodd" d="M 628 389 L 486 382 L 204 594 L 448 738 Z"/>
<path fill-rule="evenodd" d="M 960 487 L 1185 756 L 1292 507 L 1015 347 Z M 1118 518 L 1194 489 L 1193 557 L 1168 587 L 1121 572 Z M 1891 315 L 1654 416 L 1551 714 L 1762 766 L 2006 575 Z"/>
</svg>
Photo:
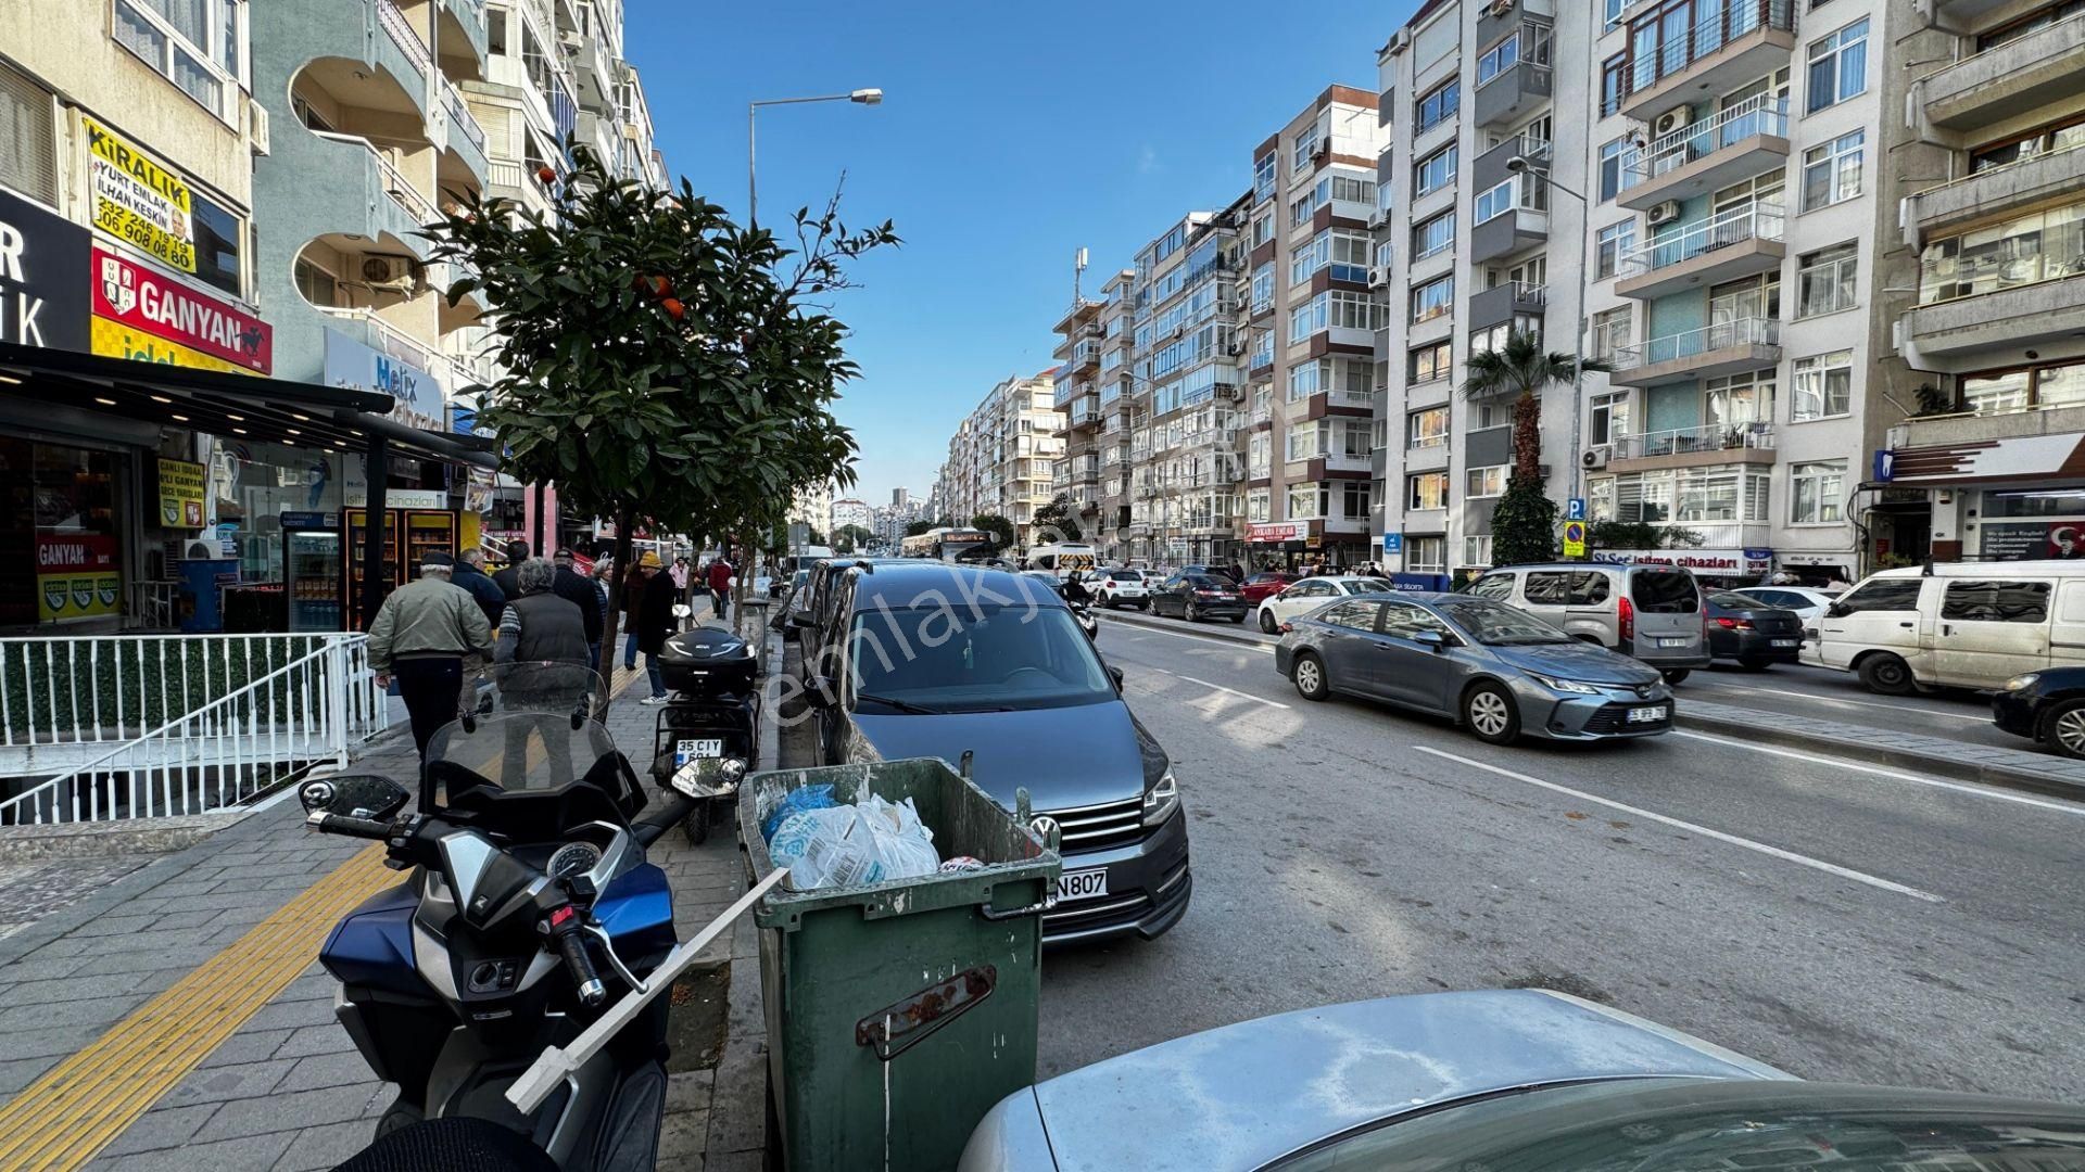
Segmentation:
<svg viewBox="0 0 2085 1172">
<path fill-rule="evenodd" d="M 826 765 L 972 755 L 1007 809 L 1063 832 L 1045 941 L 1166 932 L 1186 913 L 1186 817 L 1166 749 L 1063 599 L 1001 571 L 911 559 L 849 569 L 805 692 Z M 997 599 L 1011 599 L 1001 603 Z"/>
</svg>

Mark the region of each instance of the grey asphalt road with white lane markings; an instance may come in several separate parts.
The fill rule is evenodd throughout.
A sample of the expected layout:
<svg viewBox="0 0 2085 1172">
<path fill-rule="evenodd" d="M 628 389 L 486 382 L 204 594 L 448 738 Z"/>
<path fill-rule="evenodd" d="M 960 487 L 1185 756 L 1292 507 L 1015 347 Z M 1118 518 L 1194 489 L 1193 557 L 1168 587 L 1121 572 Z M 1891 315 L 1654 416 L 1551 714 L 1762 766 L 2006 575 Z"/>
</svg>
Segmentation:
<svg viewBox="0 0 2085 1172">
<path fill-rule="evenodd" d="M 1303 701 L 1257 646 L 1111 624 L 1101 651 L 1178 765 L 1195 903 L 1047 957 L 1045 1074 L 1539 984 L 1806 1078 L 2085 1099 L 2085 805 L 1687 732 L 1493 749 Z"/>
</svg>

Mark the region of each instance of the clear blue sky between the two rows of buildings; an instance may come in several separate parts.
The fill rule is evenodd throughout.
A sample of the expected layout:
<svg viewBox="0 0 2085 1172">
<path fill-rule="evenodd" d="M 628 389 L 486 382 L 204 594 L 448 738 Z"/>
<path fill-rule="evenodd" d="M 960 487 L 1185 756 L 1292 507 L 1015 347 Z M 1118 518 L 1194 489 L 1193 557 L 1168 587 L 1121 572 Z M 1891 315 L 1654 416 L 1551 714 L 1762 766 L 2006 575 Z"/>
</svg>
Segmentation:
<svg viewBox="0 0 2085 1172">
<path fill-rule="evenodd" d="M 861 380 L 840 419 L 861 444 L 857 494 L 924 494 L 949 432 L 1009 373 L 1051 365 L 1049 327 L 1193 209 L 1251 179 L 1251 150 L 1332 81 L 1376 88 L 1376 48 L 1414 0 L 1032 0 L 715 4 L 630 0 L 673 175 L 746 202 L 746 102 L 763 108 L 763 221 L 821 202 L 847 171 L 853 223 L 897 221 L 905 246 L 857 271 L 836 311 Z"/>
</svg>

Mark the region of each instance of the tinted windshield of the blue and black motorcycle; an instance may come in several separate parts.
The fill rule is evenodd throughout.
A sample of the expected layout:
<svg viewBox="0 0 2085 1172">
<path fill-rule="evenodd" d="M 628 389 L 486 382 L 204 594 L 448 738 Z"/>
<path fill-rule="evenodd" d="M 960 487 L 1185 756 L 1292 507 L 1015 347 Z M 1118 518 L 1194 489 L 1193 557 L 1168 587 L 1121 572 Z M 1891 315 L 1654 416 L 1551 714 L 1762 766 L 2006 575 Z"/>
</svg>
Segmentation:
<svg viewBox="0 0 2085 1172">
<path fill-rule="evenodd" d="M 586 778 L 615 753 L 605 697 L 600 674 L 580 663 L 496 663 L 465 680 L 463 715 L 427 742 L 434 801 L 446 805 L 473 778 L 507 795 Z"/>
</svg>

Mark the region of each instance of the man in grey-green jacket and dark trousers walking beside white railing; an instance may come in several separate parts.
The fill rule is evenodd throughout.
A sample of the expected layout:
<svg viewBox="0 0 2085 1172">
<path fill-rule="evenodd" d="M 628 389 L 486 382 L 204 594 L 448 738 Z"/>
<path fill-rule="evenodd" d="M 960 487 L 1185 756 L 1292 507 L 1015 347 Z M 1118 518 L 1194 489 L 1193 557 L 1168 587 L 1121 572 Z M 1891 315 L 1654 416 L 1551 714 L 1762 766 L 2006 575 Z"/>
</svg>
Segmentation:
<svg viewBox="0 0 2085 1172">
<path fill-rule="evenodd" d="M 492 624 L 463 586 L 450 582 L 457 559 L 442 551 L 421 557 L 419 578 L 392 590 L 369 624 L 369 667 L 377 686 L 398 680 L 404 711 L 413 717 L 413 744 L 421 765 L 427 740 L 457 719 L 463 657 L 492 651 Z M 425 795 L 421 799 L 425 803 Z"/>
</svg>

